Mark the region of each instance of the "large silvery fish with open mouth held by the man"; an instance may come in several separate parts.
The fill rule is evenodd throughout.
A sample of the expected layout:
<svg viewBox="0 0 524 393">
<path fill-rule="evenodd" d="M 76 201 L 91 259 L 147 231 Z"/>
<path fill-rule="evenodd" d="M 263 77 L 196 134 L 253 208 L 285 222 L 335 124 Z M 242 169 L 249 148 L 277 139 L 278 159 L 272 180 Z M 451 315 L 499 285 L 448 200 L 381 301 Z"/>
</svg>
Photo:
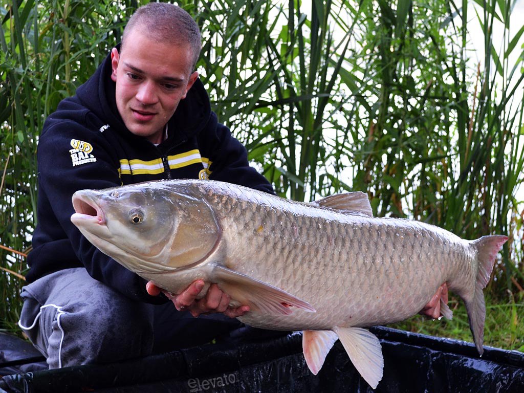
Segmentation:
<svg viewBox="0 0 524 393">
<path fill-rule="evenodd" d="M 73 206 L 71 221 L 126 268 L 173 293 L 195 279 L 215 282 L 231 305 L 249 305 L 242 322 L 302 330 L 314 374 L 340 339 L 373 388 L 384 361 L 363 328 L 417 314 L 444 282 L 465 302 L 482 354 L 482 290 L 507 240 L 466 241 L 421 222 L 376 218 L 362 192 L 299 203 L 211 180 L 81 190 Z M 444 305 L 443 313 L 451 316 Z"/>
</svg>

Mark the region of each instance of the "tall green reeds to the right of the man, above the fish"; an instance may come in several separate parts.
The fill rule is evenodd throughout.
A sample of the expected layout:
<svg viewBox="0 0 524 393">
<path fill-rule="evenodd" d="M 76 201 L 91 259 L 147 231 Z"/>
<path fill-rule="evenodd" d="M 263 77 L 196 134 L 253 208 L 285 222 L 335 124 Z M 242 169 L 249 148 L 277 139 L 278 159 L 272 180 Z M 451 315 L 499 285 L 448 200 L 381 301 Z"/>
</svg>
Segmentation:
<svg viewBox="0 0 524 393">
<path fill-rule="evenodd" d="M 250 158 L 292 199 L 364 190 L 380 216 L 465 238 L 509 234 L 490 288 L 499 299 L 521 291 L 524 30 L 510 35 L 514 4 L 300 4 L 202 9 L 213 15 L 204 29 L 219 32 L 205 80 Z M 470 28 L 484 35 L 478 61 Z"/>
</svg>

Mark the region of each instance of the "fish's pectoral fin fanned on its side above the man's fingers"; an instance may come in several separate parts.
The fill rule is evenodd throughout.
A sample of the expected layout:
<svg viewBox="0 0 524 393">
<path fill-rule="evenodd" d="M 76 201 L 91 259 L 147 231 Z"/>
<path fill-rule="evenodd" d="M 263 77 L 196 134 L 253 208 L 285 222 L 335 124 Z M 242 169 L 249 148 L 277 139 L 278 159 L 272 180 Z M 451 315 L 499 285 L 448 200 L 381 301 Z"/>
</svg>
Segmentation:
<svg viewBox="0 0 524 393">
<path fill-rule="evenodd" d="M 211 278 L 219 283 L 219 287 L 229 294 L 231 299 L 249 305 L 253 311 L 269 315 L 290 315 L 293 313 L 293 307 L 296 307 L 316 312 L 311 304 L 290 293 L 223 266 L 214 267 Z"/>
</svg>

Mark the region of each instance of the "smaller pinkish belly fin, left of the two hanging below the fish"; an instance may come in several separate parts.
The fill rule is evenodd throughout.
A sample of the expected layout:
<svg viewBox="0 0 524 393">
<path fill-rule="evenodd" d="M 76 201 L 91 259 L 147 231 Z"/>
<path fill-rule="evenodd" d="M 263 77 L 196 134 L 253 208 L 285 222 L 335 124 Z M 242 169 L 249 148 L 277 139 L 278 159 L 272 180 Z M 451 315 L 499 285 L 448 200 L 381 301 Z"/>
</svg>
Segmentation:
<svg viewBox="0 0 524 393">
<path fill-rule="evenodd" d="M 338 338 L 331 330 L 304 330 L 302 332 L 302 351 L 305 363 L 308 364 L 314 375 L 319 373 L 326 356 Z"/>
</svg>

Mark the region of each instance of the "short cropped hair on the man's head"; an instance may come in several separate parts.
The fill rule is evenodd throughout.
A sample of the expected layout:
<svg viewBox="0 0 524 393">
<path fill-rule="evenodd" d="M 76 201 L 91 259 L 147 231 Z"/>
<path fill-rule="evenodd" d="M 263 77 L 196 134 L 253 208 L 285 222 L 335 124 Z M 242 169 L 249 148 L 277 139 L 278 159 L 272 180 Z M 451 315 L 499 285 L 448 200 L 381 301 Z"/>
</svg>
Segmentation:
<svg viewBox="0 0 524 393">
<path fill-rule="evenodd" d="M 202 48 L 202 37 L 198 25 L 184 9 L 169 3 L 149 3 L 139 7 L 124 28 L 121 51 L 126 36 L 135 27 L 144 29 L 153 39 L 173 45 L 189 45 L 193 52 L 191 71 L 194 70 Z"/>
</svg>

